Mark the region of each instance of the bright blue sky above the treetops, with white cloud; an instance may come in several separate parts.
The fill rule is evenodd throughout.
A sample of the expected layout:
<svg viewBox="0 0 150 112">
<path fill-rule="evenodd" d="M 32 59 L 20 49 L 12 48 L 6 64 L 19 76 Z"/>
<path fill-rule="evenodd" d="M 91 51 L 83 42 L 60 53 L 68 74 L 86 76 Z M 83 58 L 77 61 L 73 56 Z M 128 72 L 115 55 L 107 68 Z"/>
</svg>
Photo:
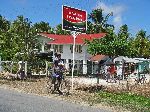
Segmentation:
<svg viewBox="0 0 150 112">
<path fill-rule="evenodd" d="M 33 24 L 45 21 L 55 27 L 62 22 L 62 5 L 87 13 L 101 7 L 104 14 L 113 12 L 109 23 L 115 25 L 116 31 L 127 24 L 133 35 L 141 29 L 150 35 L 150 0 L 0 0 L 0 15 L 10 21 L 23 15 Z"/>
</svg>

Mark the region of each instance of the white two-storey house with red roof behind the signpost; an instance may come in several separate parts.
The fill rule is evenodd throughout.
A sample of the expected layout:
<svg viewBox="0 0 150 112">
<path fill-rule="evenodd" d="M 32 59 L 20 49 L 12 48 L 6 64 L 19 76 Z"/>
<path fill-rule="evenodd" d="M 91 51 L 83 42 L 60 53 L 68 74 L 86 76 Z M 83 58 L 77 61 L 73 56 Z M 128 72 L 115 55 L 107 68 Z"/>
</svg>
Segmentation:
<svg viewBox="0 0 150 112">
<path fill-rule="evenodd" d="M 76 37 L 75 62 L 77 65 L 82 66 L 75 66 L 75 69 L 81 69 L 83 74 L 87 74 L 87 61 L 91 55 L 87 52 L 87 45 L 85 45 L 84 40 L 93 40 L 94 38 L 100 39 L 104 36 L 105 33 L 99 33 L 80 34 Z M 73 37 L 71 35 L 40 33 L 37 37 L 42 43 L 42 52 L 53 49 L 54 52 L 61 53 L 66 68 L 69 68 L 69 64 L 71 65 L 73 58 Z"/>
</svg>

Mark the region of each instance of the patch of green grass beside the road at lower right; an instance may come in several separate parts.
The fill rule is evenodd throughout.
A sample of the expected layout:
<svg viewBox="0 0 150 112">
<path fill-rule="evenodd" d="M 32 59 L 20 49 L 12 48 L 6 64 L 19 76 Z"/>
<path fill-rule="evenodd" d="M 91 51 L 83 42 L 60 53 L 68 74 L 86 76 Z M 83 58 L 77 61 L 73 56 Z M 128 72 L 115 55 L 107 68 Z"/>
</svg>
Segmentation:
<svg viewBox="0 0 150 112">
<path fill-rule="evenodd" d="M 97 92 L 95 103 L 101 102 L 110 106 L 121 106 L 133 112 L 150 112 L 150 98 L 136 94 Z"/>
</svg>

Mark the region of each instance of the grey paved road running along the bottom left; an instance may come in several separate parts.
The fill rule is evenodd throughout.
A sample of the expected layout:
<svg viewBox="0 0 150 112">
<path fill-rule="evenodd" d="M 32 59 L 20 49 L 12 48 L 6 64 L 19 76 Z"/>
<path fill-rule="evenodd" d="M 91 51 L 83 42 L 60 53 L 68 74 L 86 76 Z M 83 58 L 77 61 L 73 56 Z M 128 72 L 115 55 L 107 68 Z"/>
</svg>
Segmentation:
<svg viewBox="0 0 150 112">
<path fill-rule="evenodd" d="M 42 96 L 0 88 L 0 112 L 108 112 Z"/>
</svg>

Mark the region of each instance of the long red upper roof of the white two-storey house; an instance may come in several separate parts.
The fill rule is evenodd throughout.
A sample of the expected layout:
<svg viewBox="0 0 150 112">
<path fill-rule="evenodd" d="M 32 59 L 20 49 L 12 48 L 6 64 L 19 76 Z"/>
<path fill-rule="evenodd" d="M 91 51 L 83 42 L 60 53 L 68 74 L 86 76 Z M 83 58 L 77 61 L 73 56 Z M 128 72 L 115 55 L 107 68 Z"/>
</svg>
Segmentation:
<svg viewBox="0 0 150 112">
<path fill-rule="evenodd" d="M 39 35 L 53 39 L 53 41 L 48 42 L 48 44 L 73 44 L 72 35 L 56 35 L 48 33 L 40 33 Z M 102 38 L 105 35 L 106 33 L 80 34 L 76 37 L 76 44 L 84 44 L 84 39 L 93 40 L 94 38 Z"/>
</svg>

